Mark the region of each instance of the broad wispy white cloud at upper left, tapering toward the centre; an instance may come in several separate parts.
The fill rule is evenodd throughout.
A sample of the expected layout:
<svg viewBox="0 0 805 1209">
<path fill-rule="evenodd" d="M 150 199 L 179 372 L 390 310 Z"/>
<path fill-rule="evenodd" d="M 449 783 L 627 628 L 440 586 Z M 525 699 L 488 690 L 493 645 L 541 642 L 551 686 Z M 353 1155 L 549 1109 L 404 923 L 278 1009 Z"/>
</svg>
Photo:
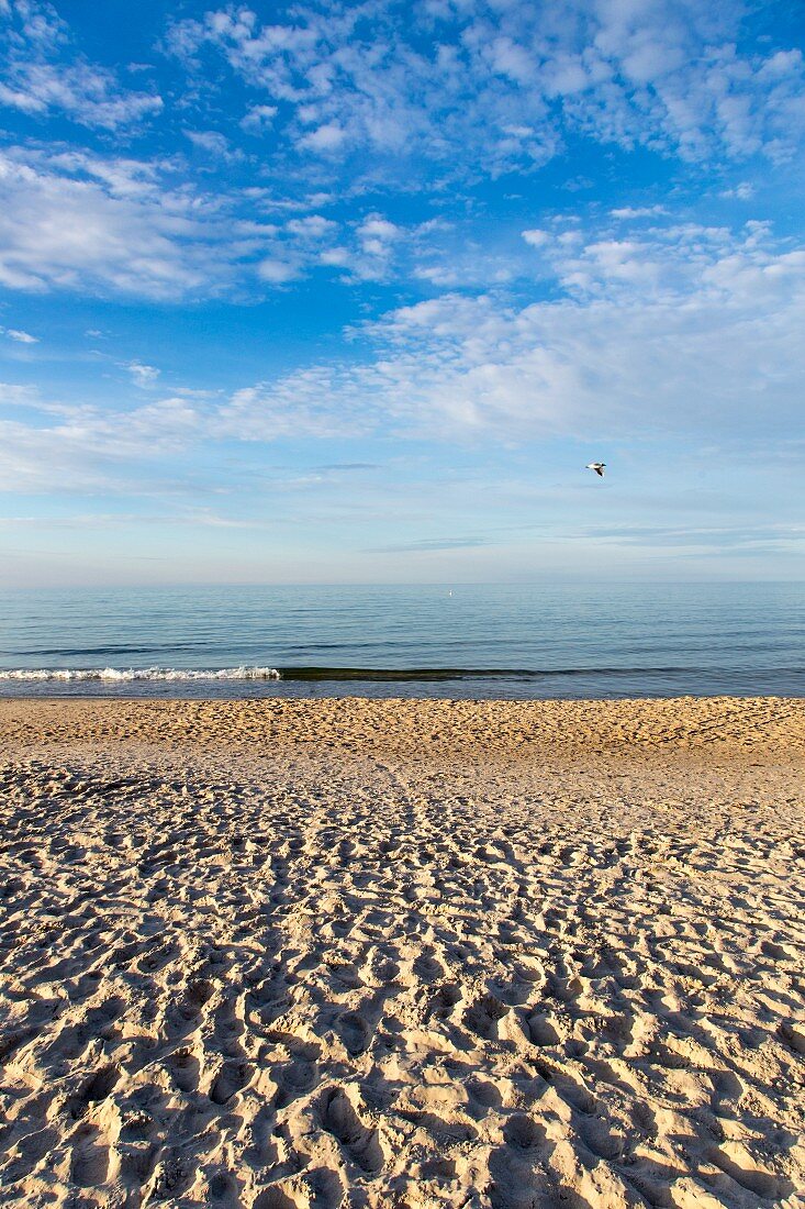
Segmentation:
<svg viewBox="0 0 805 1209">
<path fill-rule="evenodd" d="M 317 266 L 381 280 L 393 264 L 410 272 L 411 256 L 448 230 L 436 221 L 404 230 L 372 213 L 343 232 L 320 213 L 299 214 L 330 201 L 315 193 L 294 203 L 297 213 L 280 226 L 241 218 L 245 207 L 254 215 L 251 196 L 202 192 L 173 161 L 0 151 L 0 283 L 178 300 L 244 282 L 254 288 L 255 279 L 285 285 Z M 277 208 L 272 195 L 266 208 Z M 352 247 L 344 251 L 346 237 Z"/>
</svg>

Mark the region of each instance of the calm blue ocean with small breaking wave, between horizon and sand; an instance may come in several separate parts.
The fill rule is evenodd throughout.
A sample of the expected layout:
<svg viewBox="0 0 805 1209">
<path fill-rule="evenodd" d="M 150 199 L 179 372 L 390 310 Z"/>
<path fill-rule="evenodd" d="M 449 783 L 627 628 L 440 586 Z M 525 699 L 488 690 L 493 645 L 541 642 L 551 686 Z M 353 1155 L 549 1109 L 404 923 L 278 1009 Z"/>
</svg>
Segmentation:
<svg viewBox="0 0 805 1209">
<path fill-rule="evenodd" d="M 803 584 L 0 591 L 5 696 L 805 694 Z"/>
</svg>

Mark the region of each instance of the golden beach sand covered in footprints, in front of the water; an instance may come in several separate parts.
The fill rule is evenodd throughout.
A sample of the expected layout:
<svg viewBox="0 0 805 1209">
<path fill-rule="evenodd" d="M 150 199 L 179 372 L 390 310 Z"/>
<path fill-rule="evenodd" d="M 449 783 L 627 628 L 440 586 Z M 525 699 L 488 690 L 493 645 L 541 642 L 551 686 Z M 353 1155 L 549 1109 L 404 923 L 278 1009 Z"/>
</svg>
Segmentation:
<svg viewBox="0 0 805 1209">
<path fill-rule="evenodd" d="M 805 1205 L 805 701 L 0 736 L 4 1205 Z"/>
</svg>

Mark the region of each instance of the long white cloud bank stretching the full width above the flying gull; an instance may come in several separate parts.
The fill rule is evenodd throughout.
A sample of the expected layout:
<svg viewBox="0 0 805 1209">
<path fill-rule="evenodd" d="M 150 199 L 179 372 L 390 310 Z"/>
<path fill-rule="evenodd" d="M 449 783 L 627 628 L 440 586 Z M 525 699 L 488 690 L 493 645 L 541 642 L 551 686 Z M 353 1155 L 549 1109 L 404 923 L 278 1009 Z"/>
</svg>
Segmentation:
<svg viewBox="0 0 805 1209">
<path fill-rule="evenodd" d="M 0 423 L 0 476 L 10 490 L 50 491 L 64 472 L 74 490 L 137 491 L 138 468 L 164 459 L 175 478 L 193 450 L 231 439 L 789 444 L 805 392 L 804 249 L 776 243 L 763 224 L 682 225 L 644 243 L 592 232 L 557 258 L 556 272 L 573 278 L 558 301 L 444 294 L 353 331 L 352 361 L 228 398 L 176 392 L 118 411 L 0 387 L 0 403 L 23 416 Z M 279 284 L 286 270 L 272 270 Z M 128 370 L 155 384 L 152 368 Z"/>
</svg>

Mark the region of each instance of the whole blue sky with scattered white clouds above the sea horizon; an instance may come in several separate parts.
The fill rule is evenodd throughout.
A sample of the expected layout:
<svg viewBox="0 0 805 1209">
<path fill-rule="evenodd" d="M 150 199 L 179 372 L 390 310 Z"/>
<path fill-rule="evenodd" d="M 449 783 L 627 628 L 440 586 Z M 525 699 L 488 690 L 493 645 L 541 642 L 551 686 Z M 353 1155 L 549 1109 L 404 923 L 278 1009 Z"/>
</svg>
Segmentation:
<svg viewBox="0 0 805 1209">
<path fill-rule="evenodd" d="M 804 42 L 0 0 L 0 584 L 805 579 Z"/>
</svg>

